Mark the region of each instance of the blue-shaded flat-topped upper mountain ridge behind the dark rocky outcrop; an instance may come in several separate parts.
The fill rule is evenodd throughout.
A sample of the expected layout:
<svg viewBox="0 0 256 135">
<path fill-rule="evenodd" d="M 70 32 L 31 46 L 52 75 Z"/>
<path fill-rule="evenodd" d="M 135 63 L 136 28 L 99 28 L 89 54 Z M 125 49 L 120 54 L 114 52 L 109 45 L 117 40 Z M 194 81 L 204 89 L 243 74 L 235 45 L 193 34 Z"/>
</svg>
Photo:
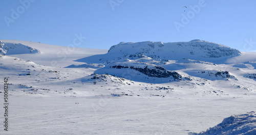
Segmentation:
<svg viewBox="0 0 256 135">
<path fill-rule="evenodd" d="M 239 50 L 202 40 L 174 43 L 147 41 L 138 43 L 121 42 L 113 45 L 105 55 L 92 56 L 77 61 L 87 62 L 94 60 L 95 62 L 107 62 L 118 59 L 148 58 L 161 61 L 191 59 L 223 63 L 228 58 L 240 55 L 241 52 Z"/>
</svg>

